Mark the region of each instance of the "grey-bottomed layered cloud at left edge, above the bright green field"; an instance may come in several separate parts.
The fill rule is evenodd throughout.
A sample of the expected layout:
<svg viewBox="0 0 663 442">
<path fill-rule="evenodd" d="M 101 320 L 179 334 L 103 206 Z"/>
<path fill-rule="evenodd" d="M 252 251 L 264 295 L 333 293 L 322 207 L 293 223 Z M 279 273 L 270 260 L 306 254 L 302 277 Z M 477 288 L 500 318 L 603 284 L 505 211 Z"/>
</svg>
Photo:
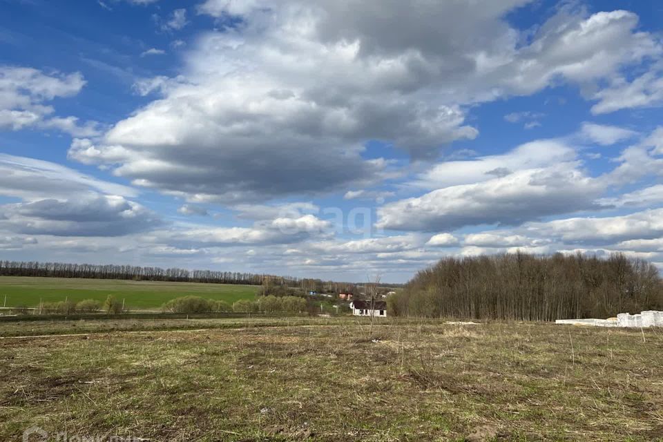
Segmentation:
<svg viewBox="0 0 663 442">
<path fill-rule="evenodd" d="M 66 166 L 0 154 L 0 231 L 26 235 L 122 236 L 153 229 L 160 218 L 128 200 L 128 186 L 98 180 Z"/>
</svg>

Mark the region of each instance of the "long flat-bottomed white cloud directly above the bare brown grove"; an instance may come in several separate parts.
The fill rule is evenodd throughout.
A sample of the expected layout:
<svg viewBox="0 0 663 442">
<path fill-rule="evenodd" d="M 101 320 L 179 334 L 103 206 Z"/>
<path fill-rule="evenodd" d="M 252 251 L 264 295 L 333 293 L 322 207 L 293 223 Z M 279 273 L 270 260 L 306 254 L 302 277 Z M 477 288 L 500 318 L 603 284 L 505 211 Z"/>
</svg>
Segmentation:
<svg viewBox="0 0 663 442">
<path fill-rule="evenodd" d="M 575 162 L 515 171 L 474 184 L 437 189 L 378 208 L 377 227 L 450 231 L 468 225 L 526 220 L 597 207 L 604 187 Z"/>
</svg>

